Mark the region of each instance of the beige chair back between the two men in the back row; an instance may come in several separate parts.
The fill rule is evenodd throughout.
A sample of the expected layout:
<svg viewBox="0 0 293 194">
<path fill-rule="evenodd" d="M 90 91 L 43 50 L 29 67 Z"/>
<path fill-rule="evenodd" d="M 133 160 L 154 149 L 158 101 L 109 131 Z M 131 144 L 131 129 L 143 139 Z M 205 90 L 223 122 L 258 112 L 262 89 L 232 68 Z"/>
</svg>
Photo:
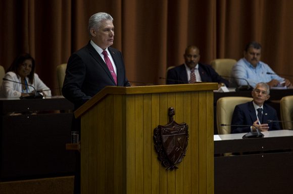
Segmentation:
<svg viewBox="0 0 293 194">
<path fill-rule="evenodd" d="M 215 59 L 211 62 L 211 66 L 220 76 L 229 78 L 231 69 L 236 62 L 234 59 Z"/>
</svg>

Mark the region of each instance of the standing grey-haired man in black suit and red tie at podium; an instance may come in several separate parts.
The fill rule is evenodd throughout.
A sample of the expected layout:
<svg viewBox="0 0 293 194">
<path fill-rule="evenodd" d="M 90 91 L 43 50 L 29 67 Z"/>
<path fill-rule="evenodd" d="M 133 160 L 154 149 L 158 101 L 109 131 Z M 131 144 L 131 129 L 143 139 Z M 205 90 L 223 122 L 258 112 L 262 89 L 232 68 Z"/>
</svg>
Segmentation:
<svg viewBox="0 0 293 194">
<path fill-rule="evenodd" d="M 120 51 L 109 47 L 114 41 L 113 18 L 96 13 L 89 18 L 90 40 L 68 60 L 62 93 L 75 109 L 105 86 L 130 86 Z M 73 131 L 80 131 L 80 120 L 73 118 Z M 80 154 L 77 154 L 74 193 L 80 193 Z"/>
</svg>

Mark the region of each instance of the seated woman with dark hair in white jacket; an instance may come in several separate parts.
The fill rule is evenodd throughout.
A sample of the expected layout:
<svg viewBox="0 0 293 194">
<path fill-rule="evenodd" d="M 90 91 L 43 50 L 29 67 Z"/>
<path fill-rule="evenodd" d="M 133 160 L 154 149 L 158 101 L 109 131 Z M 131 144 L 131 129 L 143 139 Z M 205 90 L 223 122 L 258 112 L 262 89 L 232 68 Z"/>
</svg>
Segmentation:
<svg viewBox="0 0 293 194">
<path fill-rule="evenodd" d="M 51 96 L 51 90 L 38 77 L 35 61 L 29 54 L 18 56 L 8 68 L 0 87 L 1 98 L 24 98 L 35 95 L 34 88 L 43 96 Z M 33 87 L 32 87 L 32 86 Z"/>
</svg>

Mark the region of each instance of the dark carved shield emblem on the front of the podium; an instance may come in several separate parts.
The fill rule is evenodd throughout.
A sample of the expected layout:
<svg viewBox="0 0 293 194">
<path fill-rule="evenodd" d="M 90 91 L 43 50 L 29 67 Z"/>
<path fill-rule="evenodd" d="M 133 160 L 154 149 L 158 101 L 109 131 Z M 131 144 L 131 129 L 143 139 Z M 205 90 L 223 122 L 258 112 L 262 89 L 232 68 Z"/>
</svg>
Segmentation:
<svg viewBox="0 0 293 194">
<path fill-rule="evenodd" d="M 174 108 L 168 109 L 168 115 L 168 124 L 159 125 L 154 129 L 154 141 L 162 165 L 167 167 L 167 170 L 174 170 L 186 154 L 189 135 L 186 123 L 178 124 L 173 120 Z"/>
</svg>

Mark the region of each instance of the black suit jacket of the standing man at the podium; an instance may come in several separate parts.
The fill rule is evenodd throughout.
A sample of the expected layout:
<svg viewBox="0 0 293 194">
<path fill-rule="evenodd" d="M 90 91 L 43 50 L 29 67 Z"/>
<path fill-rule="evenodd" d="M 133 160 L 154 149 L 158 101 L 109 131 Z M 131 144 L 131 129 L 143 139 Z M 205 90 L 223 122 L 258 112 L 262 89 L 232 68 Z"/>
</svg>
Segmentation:
<svg viewBox="0 0 293 194">
<path fill-rule="evenodd" d="M 111 47 L 108 50 L 117 68 L 117 85 L 130 86 L 121 52 Z M 88 42 L 69 58 L 62 93 L 78 108 L 105 86 L 115 86 L 114 79 L 102 57 Z"/>
</svg>

